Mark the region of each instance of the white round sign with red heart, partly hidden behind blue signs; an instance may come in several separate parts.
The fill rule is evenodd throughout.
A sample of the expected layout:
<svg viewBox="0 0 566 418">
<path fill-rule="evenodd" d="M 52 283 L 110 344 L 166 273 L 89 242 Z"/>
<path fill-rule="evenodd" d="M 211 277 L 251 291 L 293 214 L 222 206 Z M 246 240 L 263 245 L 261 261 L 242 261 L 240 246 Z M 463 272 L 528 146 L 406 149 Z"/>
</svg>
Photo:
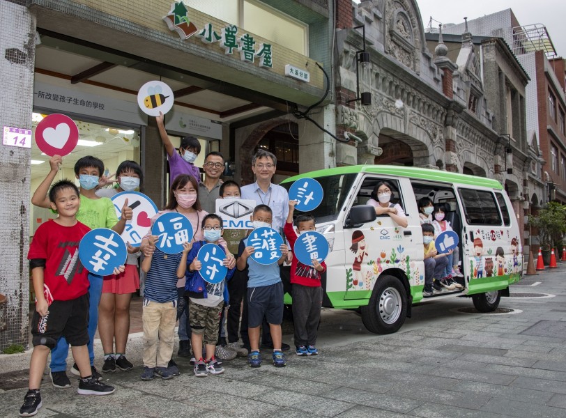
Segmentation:
<svg viewBox="0 0 566 418">
<path fill-rule="evenodd" d="M 125 222 L 122 238 L 130 242 L 132 247 L 139 247 L 142 238 L 149 232 L 151 218 L 157 214 L 158 207 L 148 196 L 140 192 L 121 192 L 114 194 L 110 199 L 114 203 L 118 219 L 122 216 L 125 199 L 128 199 L 128 206 L 132 208 L 133 216 L 131 220 Z"/>
</svg>

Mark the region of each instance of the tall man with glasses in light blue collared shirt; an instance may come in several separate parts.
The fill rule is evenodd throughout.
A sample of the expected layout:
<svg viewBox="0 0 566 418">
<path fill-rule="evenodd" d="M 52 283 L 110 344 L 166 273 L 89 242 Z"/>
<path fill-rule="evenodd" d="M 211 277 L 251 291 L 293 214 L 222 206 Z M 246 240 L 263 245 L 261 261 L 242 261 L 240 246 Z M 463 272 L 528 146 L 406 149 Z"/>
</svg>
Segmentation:
<svg viewBox="0 0 566 418">
<path fill-rule="evenodd" d="M 253 200 L 256 205 L 267 205 L 273 211 L 273 218 L 271 220 L 271 228 L 278 231 L 281 236 L 283 235 L 283 226 L 289 214 L 289 194 L 287 190 L 280 186 L 271 183 L 271 179 L 275 174 L 277 169 L 277 157 L 270 153 L 269 151 L 259 149 L 255 153 L 252 159 L 252 171 L 256 177 L 256 182 L 251 185 L 245 185 L 241 188 L 242 199 Z M 285 286 L 285 281 L 289 282 L 288 279 L 289 268 L 282 269 L 282 279 Z M 287 280 L 285 280 L 285 277 Z M 285 291 L 288 291 L 285 289 Z M 289 291 L 289 293 L 291 293 Z M 244 298 L 245 299 L 245 298 Z M 242 315 L 242 326 L 240 328 L 240 334 L 242 334 L 242 339 L 244 341 L 244 347 L 250 350 L 249 340 L 247 339 L 247 306 L 244 302 L 245 313 Z M 244 329 L 245 328 L 245 329 Z M 269 333 L 269 326 L 265 318 L 263 318 L 262 325 L 262 336 L 261 336 L 261 347 L 262 348 L 273 348 L 273 341 Z M 289 344 L 282 343 L 282 350 L 289 350 Z"/>
</svg>

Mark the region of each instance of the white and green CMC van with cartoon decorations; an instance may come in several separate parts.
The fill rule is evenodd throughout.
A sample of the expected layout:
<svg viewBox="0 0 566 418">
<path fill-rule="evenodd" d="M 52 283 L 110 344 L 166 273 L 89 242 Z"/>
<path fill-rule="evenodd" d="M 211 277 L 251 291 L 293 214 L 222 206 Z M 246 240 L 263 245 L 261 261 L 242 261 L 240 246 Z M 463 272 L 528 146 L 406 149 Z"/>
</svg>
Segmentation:
<svg viewBox="0 0 566 418">
<path fill-rule="evenodd" d="M 472 297 L 479 311 L 494 311 L 500 297 L 509 295 L 509 285 L 521 279 L 517 217 L 497 180 L 415 167 L 362 165 L 312 171 L 287 178 L 282 185 L 290 187 L 300 178 L 318 180 L 324 191 L 323 202 L 312 211 L 317 231 L 330 245 L 324 305 L 360 309 L 371 332 L 396 332 L 411 316 L 411 306 L 423 300 L 425 264 L 417 207 L 423 196 L 450 206 L 446 219 L 460 238 L 464 274 L 459 279 L 461 289 L 426 300 Z M 381 180 L 392 186 L 392 203 L 404 209 L 406 228 L 387 215 L 376 215 L 365 204 Z M 355 269 L 353 239 L 365 245 L 361 266 L 358 254 Z"/>
</svg>

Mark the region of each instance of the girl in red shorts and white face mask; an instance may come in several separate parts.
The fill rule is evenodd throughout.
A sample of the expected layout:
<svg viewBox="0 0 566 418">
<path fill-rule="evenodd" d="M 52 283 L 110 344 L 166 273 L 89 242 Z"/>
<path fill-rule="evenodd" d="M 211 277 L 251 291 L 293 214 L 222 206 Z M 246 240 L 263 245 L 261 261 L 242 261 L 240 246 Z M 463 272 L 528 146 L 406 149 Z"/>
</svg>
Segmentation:
<svg viewBox="0 0 566 418">
<path fill-rule="evenodd" d="M 135 161 L 126 160 L 116 169 L 117 186 L 98 189 L 96 194 L 110 198 L 120 192 L 132 192 L 140 187 L 143 180 L 142 167 L 139 167 Z M 132 293 L 139 289 L 137 261 L 140 253 L 139 247 L 132 247 L 130 242 L 127 245 L 128 258 L 125 271 L 104 277 L 102 296 L 98 304 L 98 334 L 104 350 L 102 371 L 105 373 L 114 373 L 116 367 L 123 371 L 131 370 L 133 367 L 133 364 L 125 358 L 125 346 L 130 332 Z"/>
</svg>

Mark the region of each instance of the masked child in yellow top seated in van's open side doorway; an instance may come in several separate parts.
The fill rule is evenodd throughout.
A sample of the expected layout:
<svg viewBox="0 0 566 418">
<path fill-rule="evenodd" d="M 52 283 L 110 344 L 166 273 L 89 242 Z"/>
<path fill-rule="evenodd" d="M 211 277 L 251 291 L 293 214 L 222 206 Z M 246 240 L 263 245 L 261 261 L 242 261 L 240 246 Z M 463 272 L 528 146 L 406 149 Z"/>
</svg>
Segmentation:
<svg viewBox="0 0 566 418">
<path fill-rule="evenodd" d="M 444 288 L 449 288 L 442 284 L 441 277 L 448 265 L 448 254 L 438 254 L 434 246 L 434 227 L 431 224 L 422 224 L 422 245 L 425 247 L 425 289 L 422 295 L 427 297 L 434 294 L 434 291 L 441 292 Z M 433 283 L 434 282 L 434 283 Z"/>
</svg>

